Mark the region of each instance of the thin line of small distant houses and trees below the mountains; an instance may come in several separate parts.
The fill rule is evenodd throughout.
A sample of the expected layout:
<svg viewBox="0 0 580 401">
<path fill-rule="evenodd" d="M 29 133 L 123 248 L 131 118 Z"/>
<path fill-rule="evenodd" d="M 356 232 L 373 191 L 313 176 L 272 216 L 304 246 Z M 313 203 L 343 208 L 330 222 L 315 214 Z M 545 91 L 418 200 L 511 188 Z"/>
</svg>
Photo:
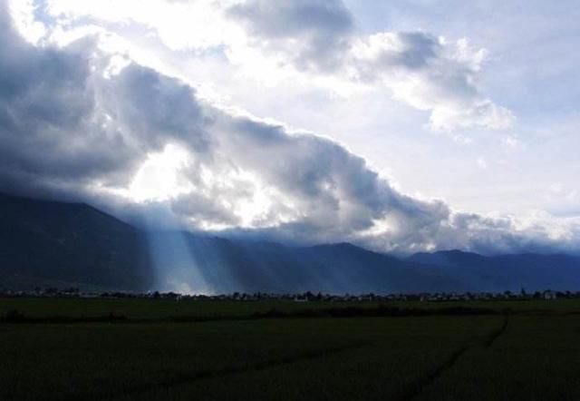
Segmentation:
<svg viewBox="0 0 580 401">
<path fill-rule="evenodd" d="M 257 301 L 257 300 L 288 300 L 294 302 L 324 301 L 324 302 L 362 302 L 362 301 L 405 301 L 414 300 L 421 302 L 443 302 L 443 301 L 469 301 L 469 300 L 516 300 L 516 299 L 546 299 L 557 298 L 580 298 L 580 291 L 536 291 L 527 293 L 525 289 L 519 292 L 437 292 L 421 294 L 322 294 L 304 292 L 301 294 L 277 294 L 277 293 L 240 293 L 221 295 L 203 294 L 179 294 L 175 292 L 151 291 L 147 293 L 134 292 L 83 292 L 77 288 L 71 289 L 34 289 L 30 291 L 14 291 L 0 289 L 0 296 L 5 297 L 73 297 L 73 298 L 160 298 L 184 300 L 232 300 L 232 301 Z"/>
</svg>

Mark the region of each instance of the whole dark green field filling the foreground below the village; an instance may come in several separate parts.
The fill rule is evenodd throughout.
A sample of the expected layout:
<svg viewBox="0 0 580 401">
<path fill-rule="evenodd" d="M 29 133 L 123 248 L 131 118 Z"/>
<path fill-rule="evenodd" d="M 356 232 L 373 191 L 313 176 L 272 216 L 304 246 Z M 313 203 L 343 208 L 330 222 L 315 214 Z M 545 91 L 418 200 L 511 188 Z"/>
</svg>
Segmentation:
<svg viewBox="0 0 580 401">
<path fill-rule="evenodd" d="M 460 305 L 498 313 L 300 318 L 353 304 L 0 298 L 0 316 L 25 317 L 0 323 L 0 399 L 580 399 L 578 300 Z M 255 316 L 272 309 L 288 315 Z M 111 314 L 125 319 L 83 320 Z M 77 320 L 51 320 L 64 317 Z"/>
</svg>

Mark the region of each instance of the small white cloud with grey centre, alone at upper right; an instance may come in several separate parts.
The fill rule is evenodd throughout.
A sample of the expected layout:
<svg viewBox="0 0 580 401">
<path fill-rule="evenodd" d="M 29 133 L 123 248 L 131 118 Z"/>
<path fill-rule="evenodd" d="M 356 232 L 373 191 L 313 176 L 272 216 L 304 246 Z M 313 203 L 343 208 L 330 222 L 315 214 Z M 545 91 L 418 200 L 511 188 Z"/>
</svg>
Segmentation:
<svg viewBox="0 0 580 401">
<path fill-rule="evenodd" d="M 505 129 L 514 116 L 486 98 L 477 76 L 487 52 L 466 39 L 449 43 L 421 32 L 373 34 L 353 49 L 357 78 L 382 82 L 395 97 L 428 110 L 440 131 Z"/>
</svg>

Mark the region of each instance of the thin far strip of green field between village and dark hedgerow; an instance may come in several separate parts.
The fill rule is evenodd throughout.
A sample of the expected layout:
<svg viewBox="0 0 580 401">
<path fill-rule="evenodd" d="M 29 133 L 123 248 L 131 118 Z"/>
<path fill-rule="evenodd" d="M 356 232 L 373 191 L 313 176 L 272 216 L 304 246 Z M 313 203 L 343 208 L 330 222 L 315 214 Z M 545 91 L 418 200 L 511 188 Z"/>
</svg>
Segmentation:
<svg viewBox="0 0 580 401">
<path fill-rule="evenodd" d="M 16 309 L 30 318 L 97 318 L 114 314 L 135 319 L 157 319 L 168 317 L 243 317 L 254 313 L 264 313 L 272 309 L 292 312 L 304 308 L 376 308 L 386 305 L 395 308 L 437 309 L 449 306 L 469 308 L 490 308 L 498 311 L 510 309 L 526 313 L 580 313 L 580 299 L 561 299 L 554 301 L 493 300 L 469 302 L 308 302 L 306 304 L 291 300 L 234 301 L 234 300 L 196 300 L 178 302 L 174 299 L 144 298 L 0 298 L 0 316 Z"/>
</svg>

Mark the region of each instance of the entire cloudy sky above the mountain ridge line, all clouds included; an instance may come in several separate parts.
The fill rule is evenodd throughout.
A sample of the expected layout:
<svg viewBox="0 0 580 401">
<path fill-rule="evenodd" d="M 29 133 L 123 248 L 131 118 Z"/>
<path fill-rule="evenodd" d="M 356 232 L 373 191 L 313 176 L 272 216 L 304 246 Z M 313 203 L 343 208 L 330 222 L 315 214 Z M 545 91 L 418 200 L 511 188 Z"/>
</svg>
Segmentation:
<svg viewBox="0 0 580 401">
<path fill-rule="evenodd" d="M 580 251 L 580 4 L 4 0 L 0 191 L 151 229 Z"/>
</svg>

